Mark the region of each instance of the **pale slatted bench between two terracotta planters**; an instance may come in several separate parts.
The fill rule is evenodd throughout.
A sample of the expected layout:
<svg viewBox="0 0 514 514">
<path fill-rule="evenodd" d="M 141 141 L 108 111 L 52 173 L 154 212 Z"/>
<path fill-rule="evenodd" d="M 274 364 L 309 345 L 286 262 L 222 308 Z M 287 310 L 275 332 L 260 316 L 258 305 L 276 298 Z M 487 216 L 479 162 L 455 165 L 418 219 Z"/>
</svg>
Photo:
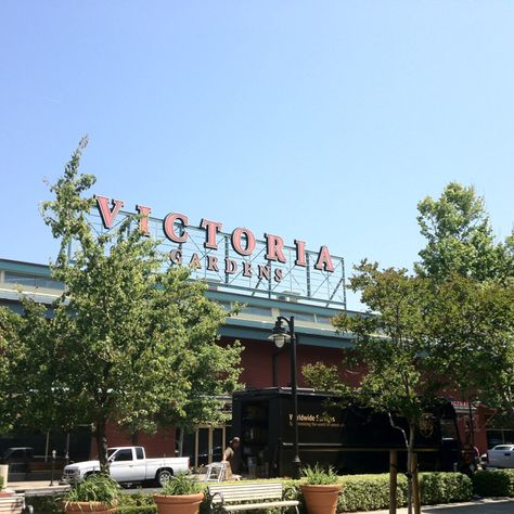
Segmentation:
<svg viewBox="0 0 514 514">
<path fill-rule="evenodd" d="M 294 506 L 298 514 L 298 500 L 284 500 L 281 483 L 223 484 L 208 488 L 210 511 L 253 511 L 257 509 Z M 244 502 L 244 503 L 242 503 Z"/>
</svg>

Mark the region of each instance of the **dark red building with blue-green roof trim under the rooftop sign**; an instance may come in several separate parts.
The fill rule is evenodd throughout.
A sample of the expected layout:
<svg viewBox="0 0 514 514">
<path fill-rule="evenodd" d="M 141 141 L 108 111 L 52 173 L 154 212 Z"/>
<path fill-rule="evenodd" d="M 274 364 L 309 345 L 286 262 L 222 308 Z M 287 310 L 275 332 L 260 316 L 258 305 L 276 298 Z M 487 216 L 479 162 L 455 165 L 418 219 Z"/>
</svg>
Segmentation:
<svg viewBox="0 0 514 514">
<path fill-rule="evenodd" d="M 44 265 L 0 259 L 0 305 L 21 312 L 20 290 L 30 295 L 37 303 L 50 307 L 62 293 L 64 285 L 51 278 L 50 268 Z M 358 377 L 348 375 L 340 367 L 342 349 L 351 340 L 338 334 L 331 319 L 345 308 L 344 303 L 301 297 L 287 291 L 270 294 L 269 288 L 257 293 L 244 288 L 227 287 L 224 282 L 209 282 L 207 295 L 227 309 L 234 301 L 245 305 L 237 316 L 227 318 L 220 331 L 219 344 L 224 345 L 239 339 L 243 347 L 241 382 L 247 389 L 279 386 L 287 387 L 291 382 L 291 362 L 287 349 L 278 349 L 269 335 L 279 316 L 295 318 L 297 342 L 297 370 L 307 363 L 323 362 L 339 367 L 340 377 L 348 383 Z M 298 386 L 305 386 L 298 371 Z M 494 427 L 493 416 L 480 406 L 470 406 L 454 401 L 460 414 L 459 429 L 462 441 L 474 440 L 480 452 L 500 442 L 514 440 L 514 431 Z M 227 412 L 231 410 L 231 399 L 227 398 Z M 492 421 L 491 421 L 492 420 Z M 187 435 L 184 454 L 190 455 L 192 465 L 202 465 L 220 460 L 221 451 L 232 433 L 230 423 L 223 426 L 198 426 L 196 432 Z M 110 428 L 111 446 L 130 445 L 133 436 Z M 174 455 L 177 450 L 174 427 L 163 427 L 156 435 L 138 435 L 138 444 L 146 448 L 151 457 Z M 13 446 L 30 446 L 39 454 L 57 454 L 69 460 L 82 460 L 95 452 L 88 426 L 73 434 L 4 434 L 0 436 L 0 453 Z"/>
</svg>

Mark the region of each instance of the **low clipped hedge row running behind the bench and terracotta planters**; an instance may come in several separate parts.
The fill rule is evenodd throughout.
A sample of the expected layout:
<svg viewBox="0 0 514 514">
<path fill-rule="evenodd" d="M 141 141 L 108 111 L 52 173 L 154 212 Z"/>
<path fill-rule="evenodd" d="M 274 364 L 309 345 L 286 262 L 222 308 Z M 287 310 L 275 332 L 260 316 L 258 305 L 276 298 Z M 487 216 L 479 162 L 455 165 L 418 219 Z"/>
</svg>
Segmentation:
<svg viewBox="0 0 514 514">
<path fill-rule="evenodd" d="M 498 478 L 497 475 L 501 478 Z M 492 476 L 494 478 L 491 478 Z M 475 490 L 481 488 L 483 493 L 478 492 L 480 496 L 509 496 L 505 492 L 506 490 L 511 491 L 511 496 L 514 496 L 514 471 L 506 473 L 478 472 L 475 477 Z M 298 487 L 301 481 L 283 480 L 283 483 L 286 496 L 297 498 L 301 502 Z M 389 504 L 388 474 L 342 476 L 339 483 L 343 489 L 337 505 L 338 513 L 387 509 Z M 501 484 L 501 487 L 498 486 L 498 490 L 493 489 L 492 484 Z M 423 504 L 466 501 L 473 496 L 471 479 L 460 473 L 423 473 L 420 475 L 420 486 Z M 492 490 L 493 492 L 486 493 L 486 490 Z M 407 503 L 407 479 L 404 475 L 398 475 L 397 502 L 398 506 Z M 31 497 L 27 498 L 27 504 L 33 505 L 34 511 L 38 514 L 57 514 L 62 512 L 60 497 Z M 301 504 L 300 510 L 305 513 L 305 507 Z M 138 492 L 124 494 L 116 512 L 119 514 L 154 514 L 157 509 L 151 494 Z M 202 514 L 208 512 L 207 501 L 202 503 L 201 512 Z"/>
</svg>

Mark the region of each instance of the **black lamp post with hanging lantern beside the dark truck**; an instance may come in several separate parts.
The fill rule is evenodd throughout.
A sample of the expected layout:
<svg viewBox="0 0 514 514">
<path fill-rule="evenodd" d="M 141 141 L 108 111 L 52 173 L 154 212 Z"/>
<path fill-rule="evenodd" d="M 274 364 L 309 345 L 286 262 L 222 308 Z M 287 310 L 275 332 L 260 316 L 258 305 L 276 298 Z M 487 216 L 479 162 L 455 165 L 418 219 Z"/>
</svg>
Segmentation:
<svg viewBox="0 0 514 514">
<path fill-rule="evenodd" d="M 282 323 L 286 323 L 286 330 Z M 271 340 L 277 345 L 278 348 L 282 348 L 285 343 L 291 342 L 291 393 L 293 396 L 293 434 L 294 434 L 294 454 L 293 458 L 293 478 L 299 478 L 299 470 L 301 462 L 298 455 L 298 394 L 296 390 L 296 334 L 295 334 L 295 317 L 284 318 L 279 316 L 272 330 L 272 334 L 269 336 Z"/>
</svg>

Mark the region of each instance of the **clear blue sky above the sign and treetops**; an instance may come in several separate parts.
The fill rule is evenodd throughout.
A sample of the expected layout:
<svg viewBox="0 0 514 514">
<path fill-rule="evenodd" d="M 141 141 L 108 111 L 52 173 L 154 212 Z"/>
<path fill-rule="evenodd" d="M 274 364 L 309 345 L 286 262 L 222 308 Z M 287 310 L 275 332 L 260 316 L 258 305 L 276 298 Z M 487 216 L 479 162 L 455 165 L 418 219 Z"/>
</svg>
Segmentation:
<svg viewBox="0 0 514 514">
<path fill-rule="evenodd" d="M 451 180 L 514 221 L 514 1 L 0 2 L 0 257 L 85 133 L 94 192 L 411 267 Z M 356 304 L 349 304 L 356 307 Z"/>
</svg>

